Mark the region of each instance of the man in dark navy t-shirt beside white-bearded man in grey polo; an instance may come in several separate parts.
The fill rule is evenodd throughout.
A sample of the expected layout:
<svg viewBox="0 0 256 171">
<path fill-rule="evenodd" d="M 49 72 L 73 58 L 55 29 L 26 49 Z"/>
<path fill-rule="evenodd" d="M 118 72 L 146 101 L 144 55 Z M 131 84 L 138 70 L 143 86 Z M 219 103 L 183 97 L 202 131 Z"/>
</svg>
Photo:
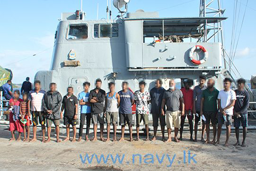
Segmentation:
<svg viewBox="0 0 256 171">
<path fill-rule="evenodd" d="M 162 131 L 162 141 L 165 142 L 164 137 L 164 127 L 165 127 L 165 116 L 161 115 L 161 105 L 163 100 L 165 89 L 162 87 L 162 81 L 160 79 L 156 80 L 156 86 L 150 90 L 151 98 L 151 114 L 153 117 L 153 127 L 154 127 L 154 137 L 152 141 L 156 140 L 156 131 L 158 128 L 158 120 L 160 120 L 161 131 Z M 165 108 L 164 108 L 165 112 Z"/>
</svg>

